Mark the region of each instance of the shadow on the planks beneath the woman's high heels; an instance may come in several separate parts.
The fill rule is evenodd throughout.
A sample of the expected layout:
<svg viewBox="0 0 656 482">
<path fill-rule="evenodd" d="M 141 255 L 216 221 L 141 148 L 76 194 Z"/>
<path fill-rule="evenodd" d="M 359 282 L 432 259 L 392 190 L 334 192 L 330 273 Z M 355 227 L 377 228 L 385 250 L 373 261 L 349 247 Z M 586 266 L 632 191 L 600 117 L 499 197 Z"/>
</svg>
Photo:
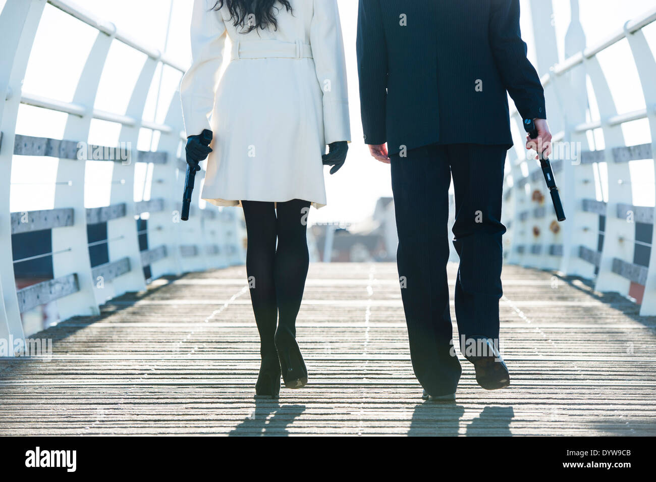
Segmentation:
<svg viewBox="0 0 656 482">
<path fill-rule="evenodd" d="M 228 435 L 287 437 L 287 426 L 291 425 L 305 408 L 305 405 L 280 405 L 276 400 L 255 400 L 255 410 Z"/>
</svg>

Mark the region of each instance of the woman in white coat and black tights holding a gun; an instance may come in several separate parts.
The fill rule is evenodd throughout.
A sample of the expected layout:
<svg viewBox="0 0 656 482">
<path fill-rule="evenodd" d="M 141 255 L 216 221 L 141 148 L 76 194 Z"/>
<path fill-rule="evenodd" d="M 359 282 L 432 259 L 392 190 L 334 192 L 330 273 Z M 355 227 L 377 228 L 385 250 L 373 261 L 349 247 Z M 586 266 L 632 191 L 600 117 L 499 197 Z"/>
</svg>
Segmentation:
<svg viewBox="0 0 656 482">
<path fill-rule="evenodd" d="M 337 172 L 350 142 L 337 0 L 194 0 L 192 55 L 180 85 L 187 158 L 200 169 L 209 154 L 203 199 L 243 207 L 256 397 L 276 398 L 281 374 L 288 388 L 308 380 L 295 340 L 308 211 L 326 204 L 323 165 Z"/>
</svg>

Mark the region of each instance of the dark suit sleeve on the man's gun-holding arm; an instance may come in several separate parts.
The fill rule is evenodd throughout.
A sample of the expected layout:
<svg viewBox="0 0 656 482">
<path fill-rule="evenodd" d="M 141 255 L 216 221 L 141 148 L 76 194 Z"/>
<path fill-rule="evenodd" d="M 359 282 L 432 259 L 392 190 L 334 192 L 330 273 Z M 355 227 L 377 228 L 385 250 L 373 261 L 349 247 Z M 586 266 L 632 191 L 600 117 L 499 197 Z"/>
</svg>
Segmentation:
<svg viewBox="0 0 656 482">
<path fill-rule="evenodd" d="M 491 0 L 489 34 L 504 87 L 522 118 L 546 119 L 544 89 L 520 31 L 520 0 Z"/>
</svg>

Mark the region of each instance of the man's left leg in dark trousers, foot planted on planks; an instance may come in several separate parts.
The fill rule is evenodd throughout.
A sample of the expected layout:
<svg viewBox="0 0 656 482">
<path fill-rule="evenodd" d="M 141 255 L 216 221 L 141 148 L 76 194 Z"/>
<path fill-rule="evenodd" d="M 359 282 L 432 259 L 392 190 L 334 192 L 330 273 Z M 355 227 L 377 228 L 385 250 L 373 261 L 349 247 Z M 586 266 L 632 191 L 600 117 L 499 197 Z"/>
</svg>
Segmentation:
<svg viewBox="0 0 656 482">
<path fill-rule="evenodd" d="M 451 356 L 446 272 L 451 174 L 446 150 L 430 146 L 391 159 L 397 264 L 413 369 L 430 395 L 455 393 L 461 367 Z"/>
</svg>

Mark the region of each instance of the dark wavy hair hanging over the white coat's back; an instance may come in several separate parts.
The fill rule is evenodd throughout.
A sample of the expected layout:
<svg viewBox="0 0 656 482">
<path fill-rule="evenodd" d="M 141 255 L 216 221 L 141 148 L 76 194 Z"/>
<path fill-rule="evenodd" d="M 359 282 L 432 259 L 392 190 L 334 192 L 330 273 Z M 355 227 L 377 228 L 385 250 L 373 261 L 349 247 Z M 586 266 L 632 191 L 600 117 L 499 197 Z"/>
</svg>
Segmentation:
<svg viewBox="0 0 656 482">
<path fill-rule="evenodd" d="M 269 26 L 277 30 L 276 13 L 280 9 L 276 3 L 280 3 L 287 12 L 293 12 L 289 0 L 217 0 L 212 10 L 222 9 L 225 5 L 230 12 L 230 20 L 237 28 L 241 27 L 243 33 L 265 30 Z"/>
</svg>

